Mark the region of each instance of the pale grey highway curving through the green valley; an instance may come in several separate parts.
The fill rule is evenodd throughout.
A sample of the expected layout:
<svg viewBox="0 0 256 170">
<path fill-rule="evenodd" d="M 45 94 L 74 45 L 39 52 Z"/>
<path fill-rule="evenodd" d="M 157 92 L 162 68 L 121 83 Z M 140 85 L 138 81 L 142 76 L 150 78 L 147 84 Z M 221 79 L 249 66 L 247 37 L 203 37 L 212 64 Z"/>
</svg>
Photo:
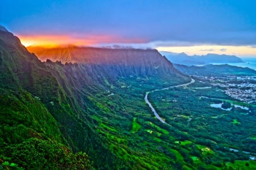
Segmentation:
<svg viewBox="0 0 256 170">
<path fill-rule="evenodd" d="M 191 78 L 191 81 L 188 82 L 188 83 L 186 83 L 186 84 L 180 84 L 180 85 L 176 85 L 176 86 L 170 86 L 170 87 L 168 87 L 168 88 L 156 89 L 156 90 L 152 90 L 152 91 L 150 91 L 150 92 L 146 92 L 146 95 L 145 95 L 145 97 L 144 97 L 144 100 L 145 100 L 145 102 L 147 103 L 147 105 L 151 108 L 151 110 L 153 111 L 153 113 L 155 114 L 155 117 L 158 118 L 158 120 L 159 120 L 160 122 L 166 123 L 166 122 L 164 122 L 164 120 L 163 120 L 162 118 L 159 117 L 159 115 L 158 115 L 158 113 L 155 111 L 154 107 L 153 107 L 153 106 L 151 105 L 151 103 L 148 101 L 148 98 L 147 98 L 148 94 L 150 94 L 150 93 L 152 93 L 152 92 L 160 91 L 160 90 L 168 90 L 168 89 L 171 89 L 171 88 L 177 88 L 177 87 L 181 87 L 181 86 L 187 86 L 187 85 L 192 84 L 192 83 L 194 83 L 194 82 L 195 82 L 195 80 L 194 80 L 193 78 Z"/>
</svg>

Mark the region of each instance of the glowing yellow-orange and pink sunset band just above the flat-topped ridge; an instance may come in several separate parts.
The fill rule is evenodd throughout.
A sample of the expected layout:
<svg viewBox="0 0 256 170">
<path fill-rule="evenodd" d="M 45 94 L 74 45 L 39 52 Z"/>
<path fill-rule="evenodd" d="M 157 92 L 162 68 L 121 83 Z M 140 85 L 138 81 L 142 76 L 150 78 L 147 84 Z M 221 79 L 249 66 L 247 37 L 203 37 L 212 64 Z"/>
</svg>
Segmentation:
<svg viewBox="0 0 256 170">
<path fill-rule="evenodd" d="M 55 47 L 58 45 L 84 45 L 92 46 L 101 43 L 143 43 L 142 39 L 123 39 L 109 35 L 90 36 L 68 36 L 68 35 L 18 35 L 20 42 L 25 47 L 30 45 L 43 45 L 45 47 Z"/>
</svg>

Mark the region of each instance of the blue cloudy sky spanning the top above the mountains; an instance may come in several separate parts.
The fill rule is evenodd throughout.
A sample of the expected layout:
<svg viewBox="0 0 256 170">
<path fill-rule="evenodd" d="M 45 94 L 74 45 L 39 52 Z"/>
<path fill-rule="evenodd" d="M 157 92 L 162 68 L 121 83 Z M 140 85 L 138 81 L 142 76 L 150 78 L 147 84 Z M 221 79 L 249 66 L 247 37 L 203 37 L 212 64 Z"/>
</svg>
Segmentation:
<svg viewBox="0 0 256 170">
<path fill-rule="evenodd" d="M 4 0 L 0 24 L 24 37 L 97 36 L 97 41 L 89 42 L 94 44 L 255 47 L 256 1 Z"/>
</svg>

